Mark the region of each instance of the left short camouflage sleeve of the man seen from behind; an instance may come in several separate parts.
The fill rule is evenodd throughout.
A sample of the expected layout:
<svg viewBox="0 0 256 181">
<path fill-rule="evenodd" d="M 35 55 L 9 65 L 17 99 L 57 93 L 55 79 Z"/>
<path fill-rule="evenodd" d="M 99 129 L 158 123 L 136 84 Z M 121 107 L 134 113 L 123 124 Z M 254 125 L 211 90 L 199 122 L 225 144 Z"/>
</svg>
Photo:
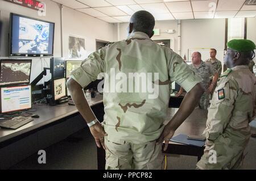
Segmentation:
<svg viewBox="0 0 256 181">
<path fill-rule="evenodd" d="M 106 47 L 93 52 L 82 61 L 80 68 L 72 71 L 71 78 L 81 87 L 86 87 L 90 82 L 96 81 L 98 74 L 105 71 Z"/>
</svg>

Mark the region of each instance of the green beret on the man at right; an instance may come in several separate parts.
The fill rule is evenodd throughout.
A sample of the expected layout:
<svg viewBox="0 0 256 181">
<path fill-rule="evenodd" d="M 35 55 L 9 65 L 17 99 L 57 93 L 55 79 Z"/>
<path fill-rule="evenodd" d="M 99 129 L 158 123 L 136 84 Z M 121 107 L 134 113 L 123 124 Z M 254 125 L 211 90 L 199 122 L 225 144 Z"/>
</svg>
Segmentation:
<svg viewBox="0 0 256 181">
<path fill-rule="evenodd" d="M 228 42 L 228 48 L 237 50 L 238 52 L 247 52 L 254 50 L 255 44 L 251 40 L 231 40 Z"/>
</svg>

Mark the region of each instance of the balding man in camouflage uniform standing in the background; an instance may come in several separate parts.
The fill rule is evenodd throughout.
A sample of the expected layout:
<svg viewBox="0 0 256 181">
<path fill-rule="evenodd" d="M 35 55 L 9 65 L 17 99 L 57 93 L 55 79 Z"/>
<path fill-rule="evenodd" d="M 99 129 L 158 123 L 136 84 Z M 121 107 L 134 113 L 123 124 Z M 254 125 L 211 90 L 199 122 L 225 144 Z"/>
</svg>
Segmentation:
<svg viewBox="0 0 256 181">
<path fill-rule="evenodd" d="M 205 92 L 201 96 L 199 108 L 207 110 L 210 100 L 209 94 L 214 90 L 214 86 L 218 81 L 218 73 L 212 65 L 201 60 L 200 52 L 192 53 L 192 64 L 189 65 L 189 67 L 195 72 L 196 75 L 199 75 L 199 77 L 203 79 L 201 84 L 204 87 Z M 212 82 L 210 82 L 210 77 L 213 77 Z M 181 94 L 183 94 L 183 87 L 180 87 L 180 91 L 176 96 L 180 96 Z"/>
</svg>

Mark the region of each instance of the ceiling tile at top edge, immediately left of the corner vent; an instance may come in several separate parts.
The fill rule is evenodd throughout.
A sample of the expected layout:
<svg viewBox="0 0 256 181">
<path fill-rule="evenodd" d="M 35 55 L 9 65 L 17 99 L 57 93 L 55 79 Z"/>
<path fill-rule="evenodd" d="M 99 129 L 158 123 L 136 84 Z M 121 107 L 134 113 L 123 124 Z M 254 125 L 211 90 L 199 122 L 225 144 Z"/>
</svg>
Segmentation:
<svg viewBox="0 0 256 181">
<path fill-rule="evenodd" d="M 218 0 L 217 11 L 238 11 L 245 0 Z"/>
</svg>

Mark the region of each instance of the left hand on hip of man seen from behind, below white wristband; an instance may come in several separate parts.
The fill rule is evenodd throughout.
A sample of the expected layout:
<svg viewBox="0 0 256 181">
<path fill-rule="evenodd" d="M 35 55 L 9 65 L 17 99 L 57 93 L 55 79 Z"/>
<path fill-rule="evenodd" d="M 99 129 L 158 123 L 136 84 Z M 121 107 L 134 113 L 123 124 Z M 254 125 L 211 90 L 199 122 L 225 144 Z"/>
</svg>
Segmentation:
<svg viewBox="0 0 256 181">
<path fill-rule="evenodd" d="M 92 133 L 92 136 L 94 137 L 98 148 L 101 148 L 101 145 L 102 145 L 104 150 L 106 150 L 106 147 L 104 144 L 104 137 L 108 136 L 108 134 L 104 131 L 104 128 L 102 127 L 100 122 L 90 127 L 90 132 Z"/>
</svg>

